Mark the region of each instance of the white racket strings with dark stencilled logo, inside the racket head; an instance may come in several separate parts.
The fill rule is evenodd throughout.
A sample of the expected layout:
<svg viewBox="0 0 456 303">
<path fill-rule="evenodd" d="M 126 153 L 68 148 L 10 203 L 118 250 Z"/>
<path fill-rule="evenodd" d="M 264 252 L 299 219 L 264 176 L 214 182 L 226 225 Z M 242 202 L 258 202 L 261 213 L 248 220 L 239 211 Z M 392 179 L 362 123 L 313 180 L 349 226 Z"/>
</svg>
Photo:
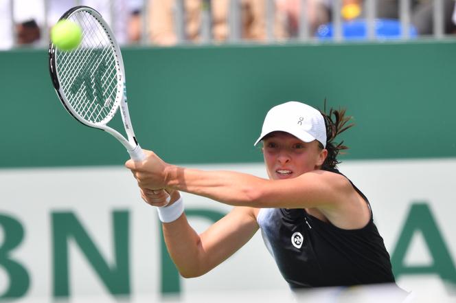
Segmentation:
<svg viewBox="0 0 456 303">
<path fill-rule="evenodd" d="M 122 80 L 113 42 L 89 12 L 70 16 L 82 28 L 82 41 L 70 52 L 56 52 L 60 85 L 82 118 L 107 123 L 119 106 Z"/>
</svg>

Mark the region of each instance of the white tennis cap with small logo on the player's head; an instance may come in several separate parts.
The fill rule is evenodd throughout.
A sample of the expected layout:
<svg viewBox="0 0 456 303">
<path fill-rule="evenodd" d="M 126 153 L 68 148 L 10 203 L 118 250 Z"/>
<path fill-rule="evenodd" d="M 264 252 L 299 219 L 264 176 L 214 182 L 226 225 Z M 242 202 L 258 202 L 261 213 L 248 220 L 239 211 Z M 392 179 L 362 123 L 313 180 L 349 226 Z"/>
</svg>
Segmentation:
<svg viewBox="0 0 456 303">
<path fill-rule="evenodd" d="M 284 131 L 304 142 L 319 141 L 326 147 L 326 126 L 323 115 L 307 104 L 290 101 L 274 106 L 266 114 L 261 135 L 253 145 L 273 131 Z"/>
</svg>

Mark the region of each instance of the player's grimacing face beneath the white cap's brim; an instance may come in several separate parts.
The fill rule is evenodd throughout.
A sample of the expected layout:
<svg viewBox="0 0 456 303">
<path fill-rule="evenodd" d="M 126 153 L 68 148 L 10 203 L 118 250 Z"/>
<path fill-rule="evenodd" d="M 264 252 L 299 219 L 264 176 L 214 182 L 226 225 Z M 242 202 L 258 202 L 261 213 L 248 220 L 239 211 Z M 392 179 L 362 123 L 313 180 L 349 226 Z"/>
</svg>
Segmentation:
<svg viewBox="0 0 456 303">
<path fill-rule="evenodd" d="M 328 151 L 314 140 L 306 143 L 282 131 L 263 139 L 263 156 L 270 179 L 295 178 L 304 172 L 319 169 Z"/>
</svg>

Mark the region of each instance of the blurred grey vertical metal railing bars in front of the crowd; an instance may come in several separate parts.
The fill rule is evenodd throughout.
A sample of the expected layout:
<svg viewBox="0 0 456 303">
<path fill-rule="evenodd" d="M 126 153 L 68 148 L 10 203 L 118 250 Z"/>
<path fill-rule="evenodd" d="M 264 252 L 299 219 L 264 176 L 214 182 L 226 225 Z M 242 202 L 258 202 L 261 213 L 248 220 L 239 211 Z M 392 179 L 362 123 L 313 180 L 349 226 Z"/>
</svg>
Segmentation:
<svg viewBox="0 0 456 303">
<path fill-rule="evenodd" d="M 16 3 L 15 0 L 8 0 L 9 1 L 9 14 L 8 18 L 10 18 L 11 26 L 11 37 L 12 37 L 12 45 L 17 46 L 17 23 L 18 21 L 14 20 L 16 10 Z M 56 20 L 52 20 L 50 17 L 50 12 L 53 10 L 52 5 L 55 3 L 51 0 L 35 0 L 35 1 L 43 1 L 43 17 L 42 20 L 38 23 L 39 27 L 41 28 L 41 37 L 38 42 L 35 42 L 34 45 L 44 46 L 47 45 L 49 41 L 49 27 L 53 25 Z M 135 41 L 135 43 L 139 43 L 142 45 L 154 45 L 157 44 L 155 41 L 151 41 L 150 39 L 150 14 L 148 13 L 151 8 L 152 1 L 170 1 L 170 0 L 137 0 L 137 8 L 136 11 L 140 12 L 141 16 L 141 38 L 139 41 Z M 174 8 L 172 9 L 172 19 L 174 19 L 174 34 L 176 36 L 177 44 L 183 43 L 192 43 L 189 41 L 185 34 L 185 3 L 186 0 L 174 0 Z M 218 1 L 218 0 L 212 0 Z M 229 0 L 229 9 L 228 9 L 228 16 L 227 16 L 227 27 L 229 36 L 224 41 L 225 43 L 241 43 L 246 41 L 245 38 L 242 36 L 242 7 L 243 2 L 245 0 Z M 275 36 L 274 32 L 274 24 L 275 24 L 275 17 L 277 12 L 277 2 L 278 1 L 286 1 L 286 0 L 264 0 L 264 20 L 265 22 L 265 37 L 262 42 L 264 43 L 275 43 L 277 41 L 277 37 Z M 316 41 L 318 38 L 315 36 L 314 33 L 310 32 L 310 24 L 308 22 L 309 18 L 307 15 L 307 1 L 315 1 L 315 0 L 301 0 L 300 1 L 300 8 L 299 12 L 299 26 L 297 27 L 297 34 L 293 37 L 289 37 L 290 41 L 299 41 L 299 42 L 308 42 L 308 41 Z M 363 1 L 363 20 L 365 21 L 365 40 L 367 41 L 375 41 L 378 37 L 376 35 L 376 5 L 378 5 L 378 1 L 382 0 L 364 0 Z M 411 38 L 411 1 L 412 0 L 398 0 L 398 24 L 400 25 L 400 36 L 398 38 L 407 40 Z M 444 0 L 432 0 L 433 1 L 433 34 L 431 35 L 433 38 L 441 39 L 446 38 L 446 34 L 444 31 Z M 7 3 L 7 1 L 3 1 Z M 84 0 L 73 0 L 67 1 L 68 8 L 74 5 L 89 5 L 91 3 L 98 3 L 98 1 L 84 1 Z M 129 14 L 129 10 L 119 11 L 117 10 L 117 6 L 121 5 L 122 3 L 132 3 L 135 1 L 128 1 L 128 0 L 111 0 L 107 1 L 107 5 L 104 5 L 104 9 L 102 10 L 102 14 L 104 15 L 105 19 L 111 23 L 112 27 L 115 27 L 115 21 L 119 19 L 120 14 Z M 201 0 L 203 5 L 201 5 L 201 26 L 199 30 L 200 39 L 198 43 L 212 43 L 214 41 L 212 37 L 212 5 L 211 1 L 209 0 Z M 343 19 L 341 15 L 341 8 L 343 6 L 343 0 L 328 0 L 328 10 L 331 11 L 332 19 L 330 20 L 330 26 L 332 29 L 332 36 L 328 40 L 332 40 L 335 42 L 345 41 L 347 37 L 344 34 L 344 24 L 347 22 Z M 106 4 L 106 3 L 105 3 Z M 61 6 L 61 5 L 60 5 Z M 95 9 L 98 9 L 97 5 L 94 5 Z M 101 11 L 100 11 L 101 12 Z M 107 16 L 106 16 L 107 15 Z M 2 18 L 4 16 L 0 16 Z M 116 32 L 114 28 L 114 32 Z M 125 33 L 124 33 L 125 34 Z M 283 42 L 283 41 L 281 41 Z M 129 41 L 124 41 L 125 43 L 130 43 Z"/>
</svg>

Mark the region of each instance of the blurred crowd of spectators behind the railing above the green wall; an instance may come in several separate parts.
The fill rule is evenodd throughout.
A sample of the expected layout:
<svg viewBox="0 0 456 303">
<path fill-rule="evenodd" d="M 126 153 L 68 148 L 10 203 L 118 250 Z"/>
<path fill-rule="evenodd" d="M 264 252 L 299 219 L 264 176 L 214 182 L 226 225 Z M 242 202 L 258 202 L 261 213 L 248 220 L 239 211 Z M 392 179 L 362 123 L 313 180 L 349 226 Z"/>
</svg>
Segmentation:
<svg viewBox="0 0 456 303">
<path fill-rule="evenodd" d="M 333 1 L 339 1 L 338 5 Z M 433 1 L 409 0 L 411 27 L 418 35 L 434 32 Z M 374 3 L 376 19 L 399 21 L 400 0 Z M 300 37 L 301 22 L 306 23 L 307 35 L 315 36 L 321 25 L 331 23 L 334 14 L 345 23 L 364 20 L 366 4 L 367 0 L 0 0 L 0 49 L 45 45 L 49 28 L 75 5 L 98 10 L 119 43 L 170 46 L 286 41 Z M 455 0 L 442 0 L 442 4 L 444 34 L 456 34 Z"/>
</svg>

